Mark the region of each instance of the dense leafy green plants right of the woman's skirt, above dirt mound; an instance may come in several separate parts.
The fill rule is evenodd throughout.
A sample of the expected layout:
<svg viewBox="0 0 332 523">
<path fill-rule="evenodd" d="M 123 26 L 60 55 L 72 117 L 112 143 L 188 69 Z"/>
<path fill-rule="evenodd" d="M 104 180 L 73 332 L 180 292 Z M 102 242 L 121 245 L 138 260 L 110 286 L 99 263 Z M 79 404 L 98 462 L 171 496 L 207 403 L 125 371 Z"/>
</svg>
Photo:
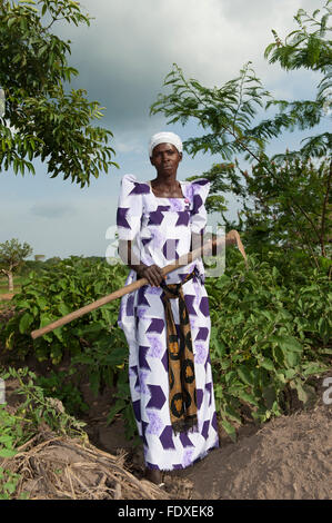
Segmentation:
<svg viewBox="0 0 332 523">
<path fill-rule="evenodd" d="M 230 268 L 207 280 L 217 408 L 232 437 L 243 406 L 262 423 L 288 412 L 288 389 L 305 404 L 309 377 L 328 371 L 332 354 L 328 276 L 309 270 L 299 286 L 273 264 L 250 256 L 247 269 L 238 256 L 229 253 Z"/>
</svg>

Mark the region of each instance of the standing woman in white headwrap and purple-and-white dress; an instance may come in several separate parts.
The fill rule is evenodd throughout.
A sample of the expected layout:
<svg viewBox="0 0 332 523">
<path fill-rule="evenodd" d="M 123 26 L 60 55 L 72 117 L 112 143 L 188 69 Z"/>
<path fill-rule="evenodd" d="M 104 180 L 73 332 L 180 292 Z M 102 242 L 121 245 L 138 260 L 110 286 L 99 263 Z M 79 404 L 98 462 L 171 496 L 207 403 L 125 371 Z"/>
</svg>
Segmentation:
<svg viewBox="0 0 332 523">
<path fill-rule="evenodd" d="M 131 268 L 125 285 L 149 285 L 122 297 L 118 322 L 129 344 L 145 477 L 161 484 L 161 471 L 187 467 L 219 446 L 204 266 L 199 258 L 164 278 L 161 272 L 201 245 L 210 182 L 177 180 L 182 142 L 172 132 L 154 135 L 149 154 L 157 178 L 123 176 L 117 215 L 119 253 Z"/>
</svg>

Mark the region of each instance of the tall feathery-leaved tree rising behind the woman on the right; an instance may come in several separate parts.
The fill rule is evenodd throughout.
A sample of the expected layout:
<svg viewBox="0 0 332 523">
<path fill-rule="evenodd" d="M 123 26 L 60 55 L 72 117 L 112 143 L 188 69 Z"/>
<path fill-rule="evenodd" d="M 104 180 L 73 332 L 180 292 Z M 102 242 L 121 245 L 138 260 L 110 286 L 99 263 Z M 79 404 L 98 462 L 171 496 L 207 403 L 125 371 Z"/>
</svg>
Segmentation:
<svg viewBox="0 0 332 523">
<path fill-rule="evenodd" d="M 279 61 L 286 70 L 302 67 L 323 75 L 314 100 L 274 100 L 256 78 L 251 62 L 235 79 L 214 88 L 188 80 L 174 65 L 164 81 L 171 91 L 159 95 L 151 106 L 151 114 L 164 114 L 169 124 L 185 125 L 190 118 L 199 124 L 203 135 L 184 142 L 190 155 L 210 152 L 221 157 L 221 162 L 204 172 L 211 181 L 208 210 L 223 215 L 220 193 L 231 191 L 242 200 L 243 211 L 238 225 L 223 216 L 229 227 L 250 231 L 248 238 L 255 247 L 262 243 L 290 245 L 295 231 L 293 245 L 310 253 L 316 265 L 318 256 L 328 256 L 331 236 L 332 134 L 308 137 L 299 150 L 286 149 L 272 158 L 265 149 L 283 131 L 311 129 L 329 117 L 332 47 L 326 32 L 331 0 L 320 13 L 319 9 L 312 16 L 299 10 L 294 17 L 299 29 L 284 42 L 273 30 L 274 42 L 265 50 L 270 62 Z M 268 118 L 270 108 L 274 115 Z M 263 119 L 258 121 L 260 110 L 264 111 Z M 240 167 L 238 155 L 253 164 L 251 176 Z"/>
</svg>

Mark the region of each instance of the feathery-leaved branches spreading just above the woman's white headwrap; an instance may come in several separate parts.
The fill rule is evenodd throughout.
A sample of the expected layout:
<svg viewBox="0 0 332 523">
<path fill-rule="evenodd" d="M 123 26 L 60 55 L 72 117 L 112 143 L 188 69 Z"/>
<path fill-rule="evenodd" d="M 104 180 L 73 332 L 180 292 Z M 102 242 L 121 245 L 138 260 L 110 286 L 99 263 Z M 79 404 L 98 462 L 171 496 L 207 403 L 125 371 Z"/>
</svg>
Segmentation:
<svg viewBox="0 0 332 523">
<path fill-rule="evenodd" d="M 266 138 L 275 131 L 252 132 L 256 110 L 271 95 L 263 89 L 250 65 L 248 62 L 239 77 L 220 88 L 208 88 L 198 80 L 187 80 L 182 69 L 174 63 L 164 81 L 164 86 L 171 86 L 172 92 L 159 95 L 151 106 L 151 114 L 163 112 L 171 117 L 169 124 L 180 121 L 185 125 L 189 118 L 194 118 L 204 131 L 210 131 L 185 141 L 184 148 L 192 156 L 210 152 L 230 160 L 234 154 L 249 147 L 252 147 L 252 154 L 258 155 L 264 149 Z"/>
</svg>

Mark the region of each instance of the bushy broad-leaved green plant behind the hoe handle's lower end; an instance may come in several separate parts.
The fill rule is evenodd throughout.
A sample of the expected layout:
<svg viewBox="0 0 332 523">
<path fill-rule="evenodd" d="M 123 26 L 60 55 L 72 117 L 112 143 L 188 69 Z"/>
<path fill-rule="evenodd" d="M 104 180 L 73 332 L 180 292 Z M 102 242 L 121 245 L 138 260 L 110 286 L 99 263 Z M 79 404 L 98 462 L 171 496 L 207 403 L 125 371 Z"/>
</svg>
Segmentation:
<svg viewBox="0 0 332 523">
<path fill-rule="evenodd" d="M 125 268 L 72 256 L 50 265 L 41 274 L 30 273 L 21 292 L 12 299 L 16 315 L 0 336 L 8 351 L 14 346 L 19 357 L 34 354 L 39 361 L 61 362 L 64 353 L 81 354 L 87 346 L 125 346 L 115 327 L 118 302 L 111 302 L 81 318 L 32 341 L 30 333 L 110 294 L 124 283 Z"/>
</svg>

